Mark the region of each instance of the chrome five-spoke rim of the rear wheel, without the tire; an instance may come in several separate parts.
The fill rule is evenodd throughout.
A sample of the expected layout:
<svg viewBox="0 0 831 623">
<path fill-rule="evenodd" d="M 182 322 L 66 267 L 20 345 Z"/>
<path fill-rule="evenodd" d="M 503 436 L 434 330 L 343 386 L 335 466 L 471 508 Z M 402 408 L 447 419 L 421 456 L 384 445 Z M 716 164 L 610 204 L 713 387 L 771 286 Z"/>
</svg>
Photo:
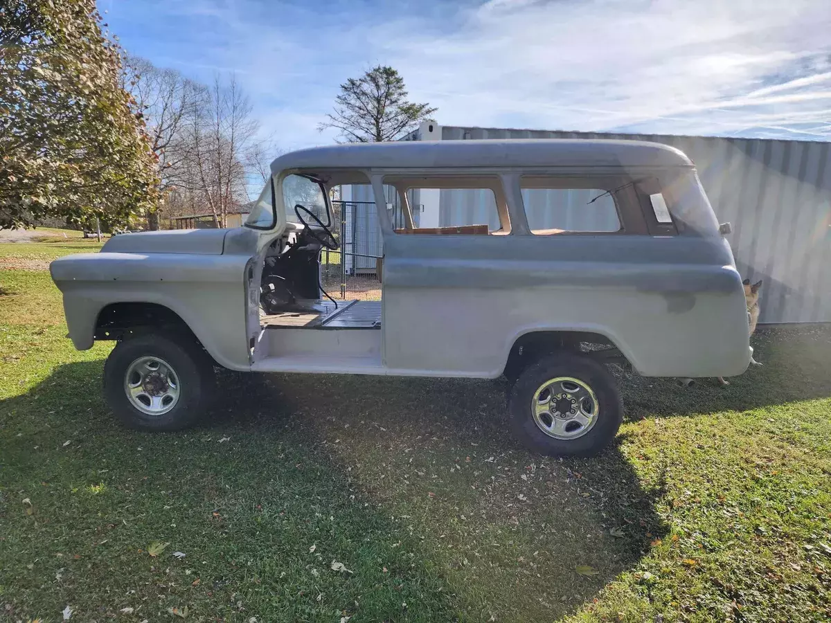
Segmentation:
<svg viewBox="0 0 831 623">
<path fill-rule="evenodd" d="M 599 413 L 592 388 L 571 376 L 545 381 L 531 400 L 534 424 L 554 439 L 583 437 L 597 423 Z"/>
</svg>

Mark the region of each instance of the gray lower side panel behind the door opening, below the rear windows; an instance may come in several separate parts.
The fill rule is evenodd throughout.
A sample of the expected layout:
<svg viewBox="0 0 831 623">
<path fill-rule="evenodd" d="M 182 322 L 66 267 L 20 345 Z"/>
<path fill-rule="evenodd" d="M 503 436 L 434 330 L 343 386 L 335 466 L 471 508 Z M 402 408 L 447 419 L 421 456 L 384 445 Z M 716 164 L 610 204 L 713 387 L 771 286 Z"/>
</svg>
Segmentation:
<svg viewBox="0 0 831 623">
<path fill-rule="evenodd" d="M 738 375 L 750 361 L 744 291 L 722 238 L 392 236 L 385 244 L 390 368 L 496 377 L 517 337 L 557 330 L 607 336 L 647 376 Z"/>
</svg>

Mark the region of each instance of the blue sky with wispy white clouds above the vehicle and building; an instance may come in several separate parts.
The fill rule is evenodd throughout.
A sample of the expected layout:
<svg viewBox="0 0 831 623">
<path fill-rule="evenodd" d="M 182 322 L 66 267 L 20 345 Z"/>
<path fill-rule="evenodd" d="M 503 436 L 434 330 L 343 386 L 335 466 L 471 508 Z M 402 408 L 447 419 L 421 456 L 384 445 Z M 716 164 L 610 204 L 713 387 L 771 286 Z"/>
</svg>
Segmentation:
<svg viewBox="0 0 831 623">
<path fill-rule="evenodd" d="M 99 0 L 128 52 L 234 71 L 280 150 L 396 67 L 443 125 L 831 139 L 831 0 Z"/>
</svg>

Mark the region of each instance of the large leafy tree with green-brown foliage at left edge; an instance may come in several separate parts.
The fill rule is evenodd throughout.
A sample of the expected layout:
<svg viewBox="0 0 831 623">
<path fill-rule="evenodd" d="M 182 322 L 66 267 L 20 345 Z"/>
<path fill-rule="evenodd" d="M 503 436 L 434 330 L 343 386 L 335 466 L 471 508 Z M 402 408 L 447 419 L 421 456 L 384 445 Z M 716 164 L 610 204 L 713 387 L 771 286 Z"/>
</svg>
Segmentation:
<svg viewBox="0 0 831 623">
<path fill-rule="evenodd" d="M 0 224 L 155 207 L 154 155 L 95 0 L 0 3 Z"/>
</svg>

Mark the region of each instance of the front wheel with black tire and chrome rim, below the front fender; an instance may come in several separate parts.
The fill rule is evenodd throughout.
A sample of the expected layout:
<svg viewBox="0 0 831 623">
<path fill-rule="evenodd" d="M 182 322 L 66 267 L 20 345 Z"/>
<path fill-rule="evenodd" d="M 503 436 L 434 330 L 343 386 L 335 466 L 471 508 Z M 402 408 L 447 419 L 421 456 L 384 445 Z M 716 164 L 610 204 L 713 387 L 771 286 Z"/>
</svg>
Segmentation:
<svg viewBox="0 0 831 623">
<path fill-rule="evenodd" d="M 214 368 L 194 338 L 167 332 L 120 341 L 104 365 L 104 395 L 130 429 L 193 425 L 210 404 Z"/>
</svg>

